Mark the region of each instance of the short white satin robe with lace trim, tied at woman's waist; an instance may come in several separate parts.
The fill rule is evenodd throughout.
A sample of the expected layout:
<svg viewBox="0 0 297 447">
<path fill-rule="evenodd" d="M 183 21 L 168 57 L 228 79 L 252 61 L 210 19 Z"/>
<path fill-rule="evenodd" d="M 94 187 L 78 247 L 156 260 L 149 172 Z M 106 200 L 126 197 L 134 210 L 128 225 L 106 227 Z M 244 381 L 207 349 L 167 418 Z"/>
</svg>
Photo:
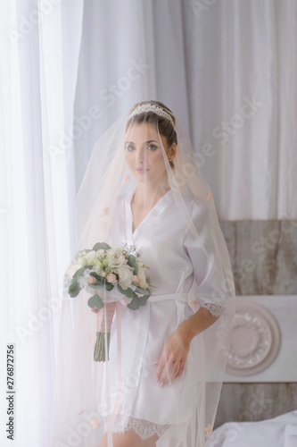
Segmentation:
<svg viewBox="0 0 297 447">
<path fill-rule="evenodd" d="M 186 222 L 179 213 L 173 192 L 169 190 L 132 233 L 133 217 L 130 202 L 133 193 L 120 198 L 117 217 L 112 225 L 111 244 L 134 244 L 149 269 L 153 284 L 151 297 L 144 307 L 131 310 L 120 304 L 121 380 L 122 390 L 116 429 L 133 427 L 139 435 L 153 434 L 156 425 L 172 425 L 161 437 L 165 439 L 174 428 L 185 437 L 185 430 L 197 405 L 197 384 L 203 380 L 203 362 L 198 336 L 191 342 L 183 374 L 163 387 L 155 381 L 157 365 L 164 343 L 189 316 L 194 308 L 211 302 L 210 278 L 213 270 Z M 212 241 L 208 231 L 208 213 L 198 200 L 186 199 L 195 227 L 211 254 Z M 214 248 L 213 248 L 214 249 Z M 193 281 L 199 285 L 195 303 L 188 304 L 187 293 Z M 201 358 L 199 358 L 201 357 Z M 111 410 L 118 389 L 118 342 L 115 318 L 111 326 L 110 360 L 106 363 L 103 389 L 108 386 Z M 106 396 L 105 396 L 106 398 Z M 105 416 L 108 401 L 102 397 L 98 412 Z M 199 402 L 198 402 L 199 403 Z M 107 411 L 108 413 L 108 411 Z M 137 419 L 144 419 L 139 422 Z M 150 424 L 151 422 L 151 424 Z M 175 426 L 177 425 L 177 426 Z M 115 429 L 115 430 L 116 430 Z M 184 430 L 182 434 L 182 430 Z M 161 434 L 162 432 L 157 433 Z M 158 441 L 159 445 L 165 445 Z M 171 444 L 172 445 L 172 444 Z"/>
</svg>

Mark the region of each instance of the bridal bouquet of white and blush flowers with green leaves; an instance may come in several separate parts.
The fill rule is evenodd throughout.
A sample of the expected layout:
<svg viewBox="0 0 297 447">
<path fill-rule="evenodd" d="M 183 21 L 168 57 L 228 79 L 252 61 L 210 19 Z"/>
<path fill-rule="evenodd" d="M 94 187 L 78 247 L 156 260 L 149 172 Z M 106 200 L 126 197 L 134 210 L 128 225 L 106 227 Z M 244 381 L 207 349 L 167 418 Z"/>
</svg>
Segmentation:
<svg viewBox="0 0 297 447">
<path fill-rule="evenodd" d="M 93 249 L 79 251 L 76 261 L 68 292 L 70 297 L 77 297 L 82 289 L 94 293 L 87 301 L 90 308 L 98 310 L 94 359 L 106 361 L 109 359 L 115 302 L 120 300 L 132 310 L 146 304 L 150 296 L 144 273 L 147 267 L 136 254 L 134 246 L 110 247 L 104 242 L 96 243 Z"/>
</svg>

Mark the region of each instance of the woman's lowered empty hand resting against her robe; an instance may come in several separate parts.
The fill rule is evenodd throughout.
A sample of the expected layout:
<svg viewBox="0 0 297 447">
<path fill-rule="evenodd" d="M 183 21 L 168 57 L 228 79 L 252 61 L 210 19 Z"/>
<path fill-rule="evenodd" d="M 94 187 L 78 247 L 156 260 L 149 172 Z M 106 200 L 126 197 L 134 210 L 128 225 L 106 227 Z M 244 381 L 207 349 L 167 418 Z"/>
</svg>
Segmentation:
<svg viewBox="0 0 297 447">
<path fill-rule="evenodd" d="M 161 386 L 165 384 L 167 379 L 170 385 L 173 379 L 183 374 L 191 340 L 192 338 L 189 337 L 188 333 L 181 326 L 178 326 L 174 333 L 171 333 L 169 336 L 160 358 L 155 363 L 155 365 L 158 364 L 156 382 L 161 379 Z"/>
</svg>

